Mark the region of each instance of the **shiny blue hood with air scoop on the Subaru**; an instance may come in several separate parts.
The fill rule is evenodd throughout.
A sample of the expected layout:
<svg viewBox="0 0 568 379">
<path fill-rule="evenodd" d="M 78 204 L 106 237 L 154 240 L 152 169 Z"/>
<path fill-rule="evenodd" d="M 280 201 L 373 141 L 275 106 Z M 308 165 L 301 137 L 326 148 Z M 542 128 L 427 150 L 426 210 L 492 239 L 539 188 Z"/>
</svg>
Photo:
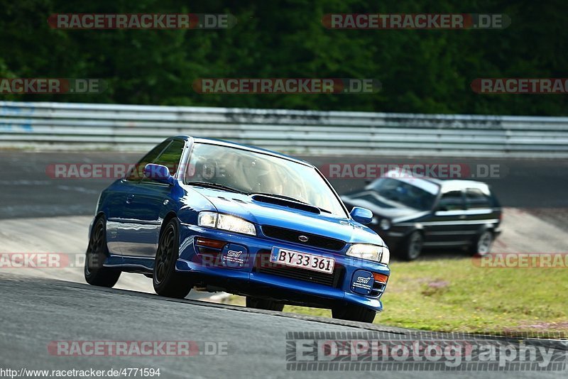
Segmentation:
<svg viewBox="0 0 568 379">
<path fill-rule="evenodd" d="M 218 212 L 239 216 L 261 226 L 279 226 L 336 238 L 347 243 L 374 243 L 384 246 L 383 240 L 374 231 L 351 219 L 259 202 L 246 194 L 202 187 L 193 189 L 206 197 Z"/>
</svg>

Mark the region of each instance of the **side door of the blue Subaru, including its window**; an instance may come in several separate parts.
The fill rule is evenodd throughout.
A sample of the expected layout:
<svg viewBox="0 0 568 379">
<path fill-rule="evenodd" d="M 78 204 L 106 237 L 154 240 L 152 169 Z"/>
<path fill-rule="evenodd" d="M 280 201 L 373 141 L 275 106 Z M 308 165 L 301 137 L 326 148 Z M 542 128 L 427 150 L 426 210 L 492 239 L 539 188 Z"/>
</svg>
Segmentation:
<svg viewBox="0 0 568 379">
<path fill-rule="evenodd" d="M 185 141 L 173 139 L 151 162 L 165 165 L 175 175 L 178 169 Z M 143 170 L 143 167 L 142 167 Z M 170 202 L 172 185 L 143 177 L 134 185 L 129 194 L 129 217 L 131 226 L 125 234 L 123 256 L 153 258 L 158 248 L 162 210 Z"/>
</svg>

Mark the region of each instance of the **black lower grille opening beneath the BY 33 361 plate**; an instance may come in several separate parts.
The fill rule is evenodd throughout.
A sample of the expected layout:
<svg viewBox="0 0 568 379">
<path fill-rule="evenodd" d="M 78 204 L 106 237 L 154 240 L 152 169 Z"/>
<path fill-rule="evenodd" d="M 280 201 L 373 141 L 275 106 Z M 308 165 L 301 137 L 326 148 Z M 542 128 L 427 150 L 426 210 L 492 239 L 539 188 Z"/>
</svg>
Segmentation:
<svg viewBox="0 0 568 379">
<path fill-rule="evenodd" d="M 338 287 L 341 283 L 345 268 L 342 265 L 335 265 L 333 273 L 320 273 L 314 270 L 306 270 L 305 268 L 295 268 L 270 261 L 270 251 L 259 251 L 256 254 L 256 260 L 253 272 L 276 275 L 284 278 L 302 280 L 304 282 L 312 282 L 329 287 Z"/>
</svg>

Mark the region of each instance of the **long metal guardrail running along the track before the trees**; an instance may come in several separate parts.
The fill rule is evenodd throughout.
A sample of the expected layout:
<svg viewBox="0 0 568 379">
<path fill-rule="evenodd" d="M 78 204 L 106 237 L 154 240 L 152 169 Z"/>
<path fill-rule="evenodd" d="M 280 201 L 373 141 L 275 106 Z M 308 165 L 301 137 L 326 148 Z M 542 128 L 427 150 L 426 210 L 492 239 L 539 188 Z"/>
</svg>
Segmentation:
<svg viewBox="0 0 568 379">
<path fill-rule="evenodd" d="M 300 155 L 568 158 L 568 117 L 0 101 L 0 148 L 147 150 L 178 134 Z"/>
</svg>

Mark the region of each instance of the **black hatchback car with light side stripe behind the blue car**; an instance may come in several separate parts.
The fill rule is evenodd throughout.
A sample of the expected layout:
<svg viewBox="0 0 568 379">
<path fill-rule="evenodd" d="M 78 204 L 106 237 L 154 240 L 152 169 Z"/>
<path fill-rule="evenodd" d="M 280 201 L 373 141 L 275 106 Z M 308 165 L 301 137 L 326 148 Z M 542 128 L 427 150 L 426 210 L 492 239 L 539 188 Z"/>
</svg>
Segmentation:
<svg viewBox="0 0 568 379">
<path fill-rule="evenodd" d="M 369 226 L 404 260 L 415 260 L 422 248 L 461 247 L 483 256 L 501 232 L 501 205 L 488 185 L 473 180 L 387 173 L 342 199 L 349 209 L 371 209 Z"/>
</svg>

